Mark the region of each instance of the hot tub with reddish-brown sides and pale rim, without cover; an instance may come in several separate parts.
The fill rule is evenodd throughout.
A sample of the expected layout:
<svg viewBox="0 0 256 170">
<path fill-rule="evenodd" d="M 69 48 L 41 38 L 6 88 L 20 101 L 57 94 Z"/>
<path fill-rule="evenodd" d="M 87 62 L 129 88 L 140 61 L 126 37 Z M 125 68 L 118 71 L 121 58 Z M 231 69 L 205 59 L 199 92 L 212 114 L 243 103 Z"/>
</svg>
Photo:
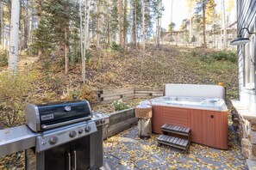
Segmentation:
<svg viewBox="0 0 256 170">
<path fill-rule="evenodd" d="M 153 132 L 163 124 L 190 127 L 191 141 L 228 149 L 228 108 L 221 98 L 170 97 L 151 100 Z"/>
</svg>

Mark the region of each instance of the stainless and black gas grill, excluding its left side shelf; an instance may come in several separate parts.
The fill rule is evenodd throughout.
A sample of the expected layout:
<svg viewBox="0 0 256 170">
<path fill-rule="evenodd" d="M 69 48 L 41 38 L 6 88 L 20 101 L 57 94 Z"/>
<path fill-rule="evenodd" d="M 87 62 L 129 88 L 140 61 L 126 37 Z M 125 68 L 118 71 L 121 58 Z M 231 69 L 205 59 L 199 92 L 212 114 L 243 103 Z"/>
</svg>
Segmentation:
<svg viewBox="0 0 256 170">
<path fill-rule="evenodd" d="M 91 112 L 87 100 L 28 104 L 34 147 L 25 150 L 26 169 L 80 170 L 103 167 L 103 124 L 109 117 Z"/>
</svg>

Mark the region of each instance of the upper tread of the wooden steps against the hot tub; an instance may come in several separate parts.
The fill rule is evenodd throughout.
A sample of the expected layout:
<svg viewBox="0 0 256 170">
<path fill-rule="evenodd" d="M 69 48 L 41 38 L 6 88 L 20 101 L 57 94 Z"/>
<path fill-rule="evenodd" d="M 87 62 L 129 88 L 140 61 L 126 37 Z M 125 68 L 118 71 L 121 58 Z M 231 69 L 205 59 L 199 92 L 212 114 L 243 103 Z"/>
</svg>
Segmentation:
<svg viewBox="0 0 256 170">
<path fill-rule="evenodd" d="M 164 124 L 161 127 L 163 132 L 170 132 L 178 135 L 183 135 L 183 136 L 190 136 L 190 128 L 189 127 L 184 127 L 184 126 L 179 126 L 179 125 L 172 125 L 172 124 Z"/>
</svg>

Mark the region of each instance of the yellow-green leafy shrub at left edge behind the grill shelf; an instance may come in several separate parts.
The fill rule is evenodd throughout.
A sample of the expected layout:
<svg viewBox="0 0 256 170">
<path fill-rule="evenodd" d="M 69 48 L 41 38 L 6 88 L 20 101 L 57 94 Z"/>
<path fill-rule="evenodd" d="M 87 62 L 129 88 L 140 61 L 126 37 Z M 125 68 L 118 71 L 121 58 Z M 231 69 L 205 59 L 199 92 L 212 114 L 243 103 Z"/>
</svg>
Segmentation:
<svg viewBox="0 0 256 170">
<path fill-rule="evenodd" d="M 29 92 L 34 88 L 32 83 L 37 76 L 37 71 L 0 74 L 0 122 L 3 126 L 11 127 L 23 122 L 24 107 L 32 99 Z"/>
</svg>

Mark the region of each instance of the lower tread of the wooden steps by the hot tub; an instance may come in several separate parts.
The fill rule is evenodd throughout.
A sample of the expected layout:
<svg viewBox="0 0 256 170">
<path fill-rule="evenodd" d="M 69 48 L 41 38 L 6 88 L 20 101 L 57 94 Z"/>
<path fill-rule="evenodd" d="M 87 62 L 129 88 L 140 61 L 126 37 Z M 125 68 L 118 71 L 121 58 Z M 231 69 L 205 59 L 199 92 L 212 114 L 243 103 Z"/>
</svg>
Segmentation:
<svg viewBox="0 0 256 170">
<path fill-rule="evenodd" d="M 174 148 L 178 149 L 183 149 L 186 152 L 188 151 L 190 147 L 190 141 L 186 139 L 182 139 L 179 137 L 172 137 L 172 136 L 167 136 L 167 135 L 160 135 L 158 138 L 158 143 L 159 144 L 165 144 L 172 146 Z"/>
</svg>

